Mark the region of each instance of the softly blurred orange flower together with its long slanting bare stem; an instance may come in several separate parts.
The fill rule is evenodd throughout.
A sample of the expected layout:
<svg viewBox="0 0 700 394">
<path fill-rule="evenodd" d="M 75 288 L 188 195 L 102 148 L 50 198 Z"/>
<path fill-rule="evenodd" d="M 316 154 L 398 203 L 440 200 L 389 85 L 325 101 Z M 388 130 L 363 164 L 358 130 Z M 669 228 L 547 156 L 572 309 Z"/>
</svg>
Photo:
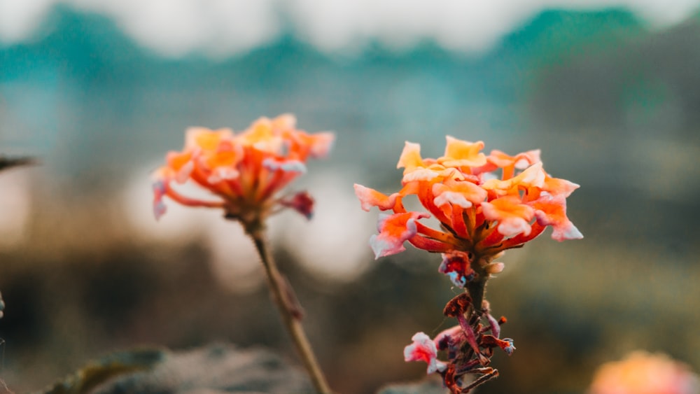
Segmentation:
<svg viewBox="0 0 700 394">
<path fill-rule="evenodd" d="M 302 308 L 277 269 L 265 237 L 265 219 L 276 211 L 292 208 L 311 218 L 314 199 L 307 192 L 283 197 L 278 193 L 306 171 L 309 158 L 325 156 L 333 141 L 331 133 L 308 134 L 295 124 L 293 115 L 280 115 L 260 118 L 238 134 L 230 129 L 188 129 L 183 150 L 168 153 L 165 166 L 155 171 L 153 212 L 160 218 L 166 211 L 164 197 L 169 197 L 186 206 L 221 209 L 226 219 L 243 225 L 311 383 L 325 394 L 332 391 L 302 327 Z M 177 184 L 188 181 L 209 191 L 211 197 L 193 198 L 176 190 Z"/>
</svg>

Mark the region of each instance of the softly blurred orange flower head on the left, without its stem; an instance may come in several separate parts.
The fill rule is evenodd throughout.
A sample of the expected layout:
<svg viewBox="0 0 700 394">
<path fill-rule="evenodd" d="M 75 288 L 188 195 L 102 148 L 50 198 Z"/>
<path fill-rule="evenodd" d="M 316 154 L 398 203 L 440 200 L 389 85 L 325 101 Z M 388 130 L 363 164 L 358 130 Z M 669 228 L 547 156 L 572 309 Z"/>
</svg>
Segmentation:
<svg viewBox="0 0 700 394">
<path fill-rule="evenodd" d="M 333 135 L 307 134 L 295 128 L 293 115 L 260 118 L 239 134 L 230 129 L 187 130 L 185 147 L 170 152 L 155 171 L 153 211 L 160 218 L 167 196 L 186 206 L 223 209 L 225 216 L 246 224 L 261 223 L 276 207 L 291 207 L 310 217 L 313 199 L 306 192 L 279 198 L 276 193 L 306 171 L 309 157 L 328 153 Z M 174 183 L 193 181 L 213 199 L 186 197 Z"/>
</svg>

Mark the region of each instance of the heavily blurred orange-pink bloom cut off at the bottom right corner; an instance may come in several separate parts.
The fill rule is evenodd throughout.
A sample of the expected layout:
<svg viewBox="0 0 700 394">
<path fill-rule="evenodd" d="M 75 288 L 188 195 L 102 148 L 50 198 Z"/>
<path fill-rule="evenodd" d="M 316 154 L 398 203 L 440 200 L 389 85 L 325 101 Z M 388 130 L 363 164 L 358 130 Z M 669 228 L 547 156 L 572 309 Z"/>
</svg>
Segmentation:
<svg viewBox="0 0 700 394">
<path fill-rule="evenodd" d="M 589 394 L 698 394 L 700 381 L 687 365 L 664 354 L 630 353 L 598 368 Z"/>
</svg>

